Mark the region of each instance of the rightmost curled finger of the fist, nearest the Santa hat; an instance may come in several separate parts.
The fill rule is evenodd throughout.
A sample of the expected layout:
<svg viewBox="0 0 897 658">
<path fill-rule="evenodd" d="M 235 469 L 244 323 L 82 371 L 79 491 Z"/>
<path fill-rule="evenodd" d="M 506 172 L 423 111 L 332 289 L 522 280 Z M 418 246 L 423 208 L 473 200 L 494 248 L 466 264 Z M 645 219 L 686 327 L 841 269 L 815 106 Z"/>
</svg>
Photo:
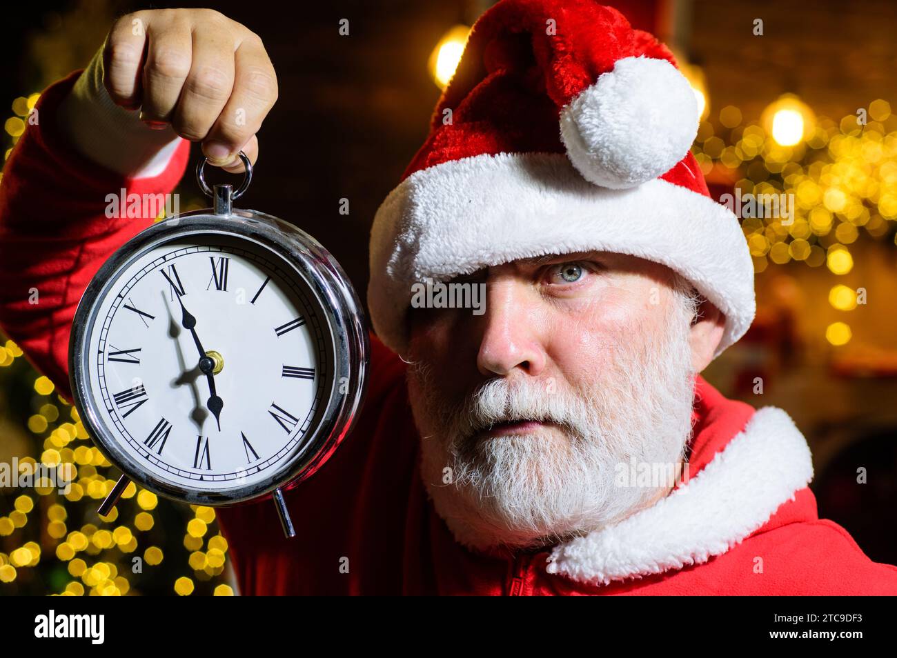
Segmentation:
<svg viewBox="0 0 897 658">
<path fill-rule="evenodd" d="M 240 42 L 234 65 L 233 93 L 206 135 L 203 153 L 214 165 L 230 163 L 242 170 L 237 153 L 241 148 L 246 151 L 244 145 L 254 138 L 277 100 L 277 76 L 261 39 L 254 34 Z"/>
</svg>

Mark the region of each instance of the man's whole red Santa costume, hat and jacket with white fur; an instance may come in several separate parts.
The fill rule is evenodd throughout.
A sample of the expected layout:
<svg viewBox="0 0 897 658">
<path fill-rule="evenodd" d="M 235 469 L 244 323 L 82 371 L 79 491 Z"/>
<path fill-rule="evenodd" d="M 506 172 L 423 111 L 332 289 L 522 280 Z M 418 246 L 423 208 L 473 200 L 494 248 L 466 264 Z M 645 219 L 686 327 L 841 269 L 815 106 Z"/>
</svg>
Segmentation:
<svg viewBox="0 0 897 658">
<path fill-rule="evenodd" d="M 27 127 L 0 187 L 0 323 L 66 395 L 83 290 L 152 221 L 108 219 L 105 197 L 170 193 L 189 148 L 178 141 L 158 170 L 133 174 L 83 155 L 84 140 L 49 120 L 73 89 L 104 93 L 96 71 L 81 73 L 41 95 L 48 119 Z M 94 107 L 109 112 L 101 125 L 125 112 Z M 71 135 L 76 117 L 62 115 Z M 283 537 L 269 503 L 219 511 L 241 593 L 897 593 L 897 567 L 818 518 L 810 451 L 788 414 L 729 401 L 701 377 L 690 477 L 617 524 L 537 550 L 471 550 L 427 496 L 396 355 L 408 345 L 411 282 L 605 250 L 691 281 L 725 315 L 717 353 L 745 333 L 753 268 L 736 217 L 710 198 L 689 152 L 697 125 L 668 49 L 613 9 L 502 0 L 483 14 L 426 143 L 374 221 L 369 393 L 353 435 L 286 493 L 302 539 Z"/>
</svg>

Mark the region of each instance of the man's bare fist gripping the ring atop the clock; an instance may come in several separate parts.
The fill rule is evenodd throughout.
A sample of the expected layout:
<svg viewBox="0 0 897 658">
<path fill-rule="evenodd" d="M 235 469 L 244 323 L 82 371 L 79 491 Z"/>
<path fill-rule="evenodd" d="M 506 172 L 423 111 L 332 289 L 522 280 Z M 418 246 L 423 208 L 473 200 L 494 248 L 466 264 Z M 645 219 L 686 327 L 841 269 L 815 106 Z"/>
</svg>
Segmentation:
<svg viewBox="0 0 897 658">
<path fill-rule="evenodd" d="M 211 9 L 128 13 L 109 30 L 103 84 L 149 125 L 171 124 L 202 142 L 209 161 L 243 170 L 255 162 L 256 133 L 277 100 L 274 66 L 262 39 Z"/>
</svg>

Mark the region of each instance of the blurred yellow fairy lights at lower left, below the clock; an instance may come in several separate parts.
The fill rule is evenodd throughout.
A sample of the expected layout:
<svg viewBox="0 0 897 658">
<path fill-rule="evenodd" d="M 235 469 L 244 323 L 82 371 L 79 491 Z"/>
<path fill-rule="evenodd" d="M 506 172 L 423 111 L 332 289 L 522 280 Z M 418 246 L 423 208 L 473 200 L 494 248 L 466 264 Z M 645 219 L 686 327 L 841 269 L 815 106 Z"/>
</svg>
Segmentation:
<svg viewBox="0 0 897 658">
<path fill-rule="evenodd" d="M 33 374 L 26 363 L 18 363 L 22 360 L 22 350 L 14 342 L 0 345 L 0 368 L 21 365 Z M 108 477 L 113 475 L 111 464 L 91 446 L 78 411 L 55 394 L 47 377 L 36 377 L 33 389 L 31 406 L 36 412 L 27 427 L 38 438 L 41 452 L 37 458 L 19 459 L 19 472 L 34 474 L 39 464 L 56 467 L 70 485 L 63 494 L 54 482 L 37 480 L 33 489 L 14 498 L 4 496 L 4 501 L 13 501 L 13 509 L 0 516 L 0 546 L 4 547 L 0 593 L 4 585 L 15 584 L 22 572 L 47 562 L 65 567 L 64 572 L 57 569 L 65 577 L 53 579 L 59 584 L 56 593 L 62 595 L 122 595 L 139 589 L 155 576 L 152 569 L 169 559 L 157 543 L 165 540 L 167 532 L 153 533 L 159 498 L 132 482 L 109 516 L 97 515 L 100 500 L 115 485 L 115 477 Z M 228 545 L 215 530 L 213 508 L 190 506 L 181 546 L 179 559 L 184 559 L 185 573 L 171 583 L 174 592 L 193 593 L 196 584 L 203 582 L 215 595 L 233 593 L 222 582 Z M 136 573 L 135 564 L 140 565 Z"/>
</svg>

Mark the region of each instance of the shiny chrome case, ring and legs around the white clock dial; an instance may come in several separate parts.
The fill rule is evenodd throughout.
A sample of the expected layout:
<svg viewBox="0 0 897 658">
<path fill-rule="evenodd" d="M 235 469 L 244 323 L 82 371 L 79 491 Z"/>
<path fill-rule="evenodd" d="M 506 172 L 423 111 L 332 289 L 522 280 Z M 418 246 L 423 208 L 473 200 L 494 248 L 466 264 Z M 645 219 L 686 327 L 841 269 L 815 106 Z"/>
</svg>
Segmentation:
<svg viewBox="0 0 897 658">
<path fill-rule="evenodd" d="M 251 164 L 243 153 L 240 155 L 247 176 L 237 192 L 232 192 L 230 185 L 216 185 L 210 189 L 203 176 L 205 160 L 201 162 L 196 177 L 206 194 L 213 196 L 214 207 L 159 221 L 130 239 L 100 267 L 78 305 L 68 355 L 74 403 L 94 443 L 109 462 L 124 473 L 100 506 L 102 515 L 115 506 L 130 480 L 165 498 L 196 505 L 230 505 L 270 493 L 281 515 L 284 531 L 293 536 L 295 532 L 283 502 L 283 490 L 305 480 L 327 461 L 353 428 L 361 409 L 370 365 L 370 345 L 361 302 L 342 267 L 315 238 L 265 212 L 232 207 L 232 200 L 245 192 L 251 180 Z M 265 481 L 213 492 L 187 489 L 163 481 L 127 454 L 118 440 L 109 436 L 106 424 L 100 420 L 98 398 L 91 392 L 88 369 L 91 333 L 100 330 L 96 324 L 97 312 L 101 300 L 111 294 L 117 281 L 116 273 L 150 247 L 203 235 L 241 238 L 255 243 L 278 256 L 284 270 L 292 270 L 289 274 L 304 290 L 306 299 L 317 306 L 313 310 L 325 325 L 322 333 L 328 343 L 325 358 L 330 373 L 298 455 Z"/>
</svg>

